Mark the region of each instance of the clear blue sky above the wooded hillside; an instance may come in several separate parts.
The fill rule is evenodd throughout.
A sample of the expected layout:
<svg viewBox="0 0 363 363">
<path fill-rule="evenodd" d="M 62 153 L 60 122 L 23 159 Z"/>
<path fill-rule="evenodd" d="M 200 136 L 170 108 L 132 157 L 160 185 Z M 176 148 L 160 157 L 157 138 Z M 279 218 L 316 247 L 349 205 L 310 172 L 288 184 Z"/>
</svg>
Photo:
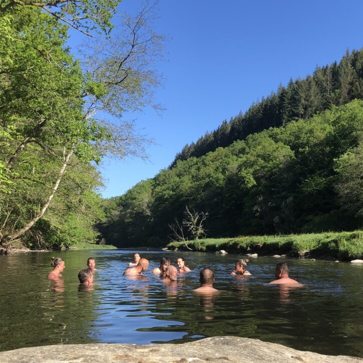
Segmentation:
<svg viewBox="0 0 363 363">
<path fill-rule="evenodd" d="M 135 14 L 140 0 L 119 10 Z M 149 162 L 105 160 L 105 198 L 120 196 L 167 167 L 183 146 L 245 112 L 252 102 L 305 78 L 317 65 L 339 61 L 363 46 L 363 1 L 160 0 L 157 33 L 171 39 L 160 65 L 166 80 L 137 128 L 154 138 Z"/>
</svg>

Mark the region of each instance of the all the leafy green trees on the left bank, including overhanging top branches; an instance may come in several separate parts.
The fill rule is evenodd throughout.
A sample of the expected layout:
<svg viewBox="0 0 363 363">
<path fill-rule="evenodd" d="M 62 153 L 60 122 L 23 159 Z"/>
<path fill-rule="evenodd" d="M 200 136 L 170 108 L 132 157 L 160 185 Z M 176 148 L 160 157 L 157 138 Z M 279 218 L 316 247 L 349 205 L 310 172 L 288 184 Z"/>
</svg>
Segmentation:
<svg viewBox="0 0 363 363">
<path fill-rule="evenodd" d="M 150 2 L 113 27 L 119 3 L 0 2 L 0 253 L 95 243 L 100 161 L 144 156 L 149 141 L 123 113 L 162 109 L 153 92 L 164 38 L 150 28 Z"/>
</svg>

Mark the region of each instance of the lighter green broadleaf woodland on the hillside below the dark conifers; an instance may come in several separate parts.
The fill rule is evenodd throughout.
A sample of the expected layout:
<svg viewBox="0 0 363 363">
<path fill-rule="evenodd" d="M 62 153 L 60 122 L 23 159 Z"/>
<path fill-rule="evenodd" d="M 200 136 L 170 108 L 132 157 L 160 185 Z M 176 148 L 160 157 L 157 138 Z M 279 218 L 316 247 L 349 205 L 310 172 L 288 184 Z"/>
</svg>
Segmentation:
<svg viewBox="0 0 363 363">
<path fill-rule="evenodd" d="M 208 213 L 211 238 L 361 228 L 363 101 L 330 108 L 177 160 L 106 201 L 103 236 L 120 247 L 164 245 L 185 206 Z"/>
</svg>

